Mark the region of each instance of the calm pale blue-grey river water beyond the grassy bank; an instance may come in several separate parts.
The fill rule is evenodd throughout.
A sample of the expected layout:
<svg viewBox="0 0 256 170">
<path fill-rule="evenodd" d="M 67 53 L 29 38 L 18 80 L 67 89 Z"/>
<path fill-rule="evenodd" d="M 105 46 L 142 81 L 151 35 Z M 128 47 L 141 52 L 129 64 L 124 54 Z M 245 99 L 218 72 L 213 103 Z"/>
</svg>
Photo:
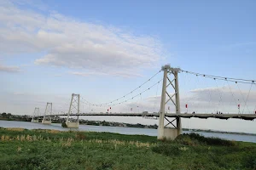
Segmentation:
<svg viewBox="0 0 256 170">
<path fill-rule="evenodd" d="M 20 127 L 26 129 L 55 129 L 61 131 L 68 131 L 71 128 L 61 127 L 60 123 L 52 123 L 51 125 L 44 125 L 41 123 L 32 122 L 16 122 L 16 121 L 1 121 L 0 127 Z M 79 125 L 79 128 L 72 128 L 72 130 L 78 131 L 91 131 L 91 132 L 109 132 L 109 133 L 121 133 L 121 134 L 143 134 L 148 136 L 157 136 L 157 129 L 150 128 L 136 128 L 136 127 L 102 127 L 91 125 Z M 183 131 L 183 133 L 190 133 L 189 131 Z M 256 136 L 254 135 L 241 135 L 241 134 L 229 134 L 229 133 L 205 133 L 196 132 L 206 137 L 217 137 L 221 139 L 229 139 L 243 142 L 256 143 Z"/>
</svg>

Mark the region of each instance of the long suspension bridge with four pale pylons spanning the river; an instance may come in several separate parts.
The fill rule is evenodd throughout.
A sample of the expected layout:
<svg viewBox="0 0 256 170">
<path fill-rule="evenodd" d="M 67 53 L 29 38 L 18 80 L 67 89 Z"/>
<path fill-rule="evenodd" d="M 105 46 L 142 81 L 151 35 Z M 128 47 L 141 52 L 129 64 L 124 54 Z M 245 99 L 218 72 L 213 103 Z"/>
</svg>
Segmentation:
<svg viewBox="0 0 256 170">
<path fill-rule="evenodd" d="M 146 87 L 146 84 L 152 82 L 154 77 L 159 75 L 160 72 L 163 72 L 163 76 L 160 80 L 151 83 L 147 88 L 143 88 Z M 178 77 L 182 73 L 184 74 L 184 77 L 187 78 L 187 81 L 185 81 L 187 82 L 187 86 L 185 87 L 189 87 L 189 85 L 192 84 L 191 80 L 198 81 L 198 77 L 201 77 L 203 79 L 212 80 L 217 88 L 210 88 L 212 87 L 212 83 L 207 84 L 208 88 L 191 88 L 189 91 L 194 94 L 198 94 L 198 96 L 180 99 L 180 84 L 178 82 Z M 188 75 L 194 77 L 189 78 Z M 224 85 L 219 86 L 217 81 L 224 82 Z M 142 111 L 135 111 L 137 108 L 139 108 L 138 105 L 137 107 L 131 107 L 130 105 L 127 106 L 129 102 L 136 98 L 142 99 L 142 95 L 150 91 L 152 88 L 156 86 L 158 88 L 160 82 L 162 82 L 160 100 L 158 101 L 156 99 L 158 97 L 156 94 L 156 100 L 154 101 L 154 107 L 158 102 L 160 102 L 160 109 L 158 111 L 143 111 L 143 109 L 147 110 L 146 107 L 143 108 L 143 105 Z M 236 84 L 237 88 L 234 88 L 234 86 L 230 85 L 230 83 Z M 194 82 L 193 84 L 199 84 L 199 82 Z M 244 85 L 249 86 L 249 90 L 247 92 L 241 90 L 241 88 L 244 88 Z M 67 127 L 79 127 L 79 116 L 155 117 L 159 119 L 158 139 L 175 139 L 177 135 L 182 133 L 181 118 L 218 118 L 225 120 L 236 118 L 253 121 L 253 119 L 256 118 L 256 95 L 252 97 L 251 101 L 249 101 L 250 94 L 253 93 L 253 87 L 256 87 L 254 80 L 216 77 L 191 71 L 183 71 L 180 68 L 173 68 L 170 65 L 164 65 L 160 71 L 154 74 L 153 77 L 150 77 L 146 82 L 143 82 L 143 84 L 118 99 L 114 99 L 107 103 L 95 104 L 89 102 L 87 99 L 84 99 L 80 96 L 80 94 L 72 94 L 68 111 L 66 110 L 61 111 L 61 113 L 54 113 L 53 104 L 47 103 L 44 110 L 44 115 L 40 115 L 38 107 L 35 108 L 32 116 L 32 122 L 39 122 L 39 118 L 42 118 L 42 123 L 50 124 L 52 117 L 65 116 L 67 117 L 65 122 Z M 137 91 L 139 92 L 136 94 Z M 230 98 L 227 99 L 227 96 L 230 96 Z M 199 103 L 199 101 L 201 102 Z M 229 105 L 222 105 L 223 103 L 227 102 Z M 183 104 L 182 107 L 181 104 Z M 81 111 L 81 105 L 87 105 L 88 108 L 100 108 L 101 111 L 93 111 L 91 109 L 87 112 Z M 122 112 L 119 111 L 113 113 L 113 107 L 117 107 L 118 105 L 126 105 L 128 107 L 128 111 L 123 112 L 121 110 Z M 191 109 L 189 105 L 191 105 Z"/>
</svg>

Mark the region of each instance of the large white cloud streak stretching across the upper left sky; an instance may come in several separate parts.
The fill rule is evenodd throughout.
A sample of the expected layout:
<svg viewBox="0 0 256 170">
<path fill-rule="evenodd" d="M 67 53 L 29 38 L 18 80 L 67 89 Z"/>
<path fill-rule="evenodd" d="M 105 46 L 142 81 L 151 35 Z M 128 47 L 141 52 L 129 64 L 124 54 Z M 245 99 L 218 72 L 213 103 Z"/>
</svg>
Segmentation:
<svg viewBox="0 0 256 170">
<path fill-rule="evenodd" d="M 157 37 L 58 14 L 39 14 L 15 3 L 0 4 L 0 50 L 5 54 L 40 53 L 37 65 L 132 77 L 158 65 L 163 55 Z M 121 73 L 121 71 L 123 73 Z M 128 75 L 128 76 L 127 76 Z"/>
</svg>

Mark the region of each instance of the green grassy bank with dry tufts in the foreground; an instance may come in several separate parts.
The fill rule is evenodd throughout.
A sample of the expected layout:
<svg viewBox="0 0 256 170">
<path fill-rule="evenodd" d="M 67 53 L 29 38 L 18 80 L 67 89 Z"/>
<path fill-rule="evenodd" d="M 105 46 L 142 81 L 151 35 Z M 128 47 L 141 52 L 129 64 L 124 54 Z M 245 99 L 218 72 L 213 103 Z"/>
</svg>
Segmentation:
<svg viewBox="0 0 256 170">
<path fill-rule="evenodd" d="M 1 169 L 256 169 L 256 144 L 0 128 Z"/>
</svg>

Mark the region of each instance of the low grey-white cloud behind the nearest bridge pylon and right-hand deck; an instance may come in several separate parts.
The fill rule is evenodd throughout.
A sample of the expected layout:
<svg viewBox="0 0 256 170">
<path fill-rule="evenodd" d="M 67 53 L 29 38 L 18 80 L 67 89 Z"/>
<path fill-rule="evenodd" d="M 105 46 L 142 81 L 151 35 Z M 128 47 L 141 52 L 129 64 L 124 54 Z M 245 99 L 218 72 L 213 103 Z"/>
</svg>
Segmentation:
<svg viewBox="0 0 256 170">
<path fill-rule="evenodd" d="M 231 91 L 230 91 L 231 89 Z M 224 113 L 237 113 L 237 105 L 241 105 L 241 112 L 254 113 L 256 104 L 256 91 L 252 88 L 248 95 L 248 90 L 240 90 L 235 87 L 218 87 L 218 88 L 200 88 L 191 90 L 185 94 L 180 94 L 181 112 L 187 112 L 185 105 L 188 105 L 189 113 L 215 113 L 221 111 Z M 170 92 L 170 94 L 172 94 Z M 248 95 L 248 99 L 247 99 Z M 160 111 L 160 95 L 148 96 L 143 99 L 134 99 L 124 106 L 120 105 L 119 111 L 134 108 L 136 111 L 158 112 Z M 166 95 L 166 100 L 169 99 Z M 175 97 L 173 98 L 175 101 Z M 239 100 L 238 100 L 239 99 Z M 138 107 L 137 107 L 138 106 Z M 170 107 L 170 110 L 168 110 Z M 175 112 L 175 106 L 172 101 L 166 104 L 167 112 Z"/>
</svg>

